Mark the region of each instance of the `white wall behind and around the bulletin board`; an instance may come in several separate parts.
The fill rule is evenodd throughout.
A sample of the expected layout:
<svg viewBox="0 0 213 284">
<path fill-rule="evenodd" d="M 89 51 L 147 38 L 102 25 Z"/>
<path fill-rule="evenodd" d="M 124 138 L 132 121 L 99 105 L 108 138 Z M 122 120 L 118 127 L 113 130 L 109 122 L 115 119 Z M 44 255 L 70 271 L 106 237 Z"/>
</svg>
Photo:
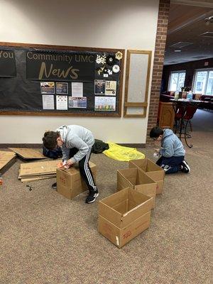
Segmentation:
<svg viewBox="0 0 213 284">
<path fill-rule="evenodd" d="M 0 41 L 154 52 L 158 4 L 159 0 L 0 0 Z M 105 142 L 146 143 L 148 115 L 0 116 L 0 143 L 41 143 L 46 129 L 64 124 L 82 125 Z"/>
</svg>

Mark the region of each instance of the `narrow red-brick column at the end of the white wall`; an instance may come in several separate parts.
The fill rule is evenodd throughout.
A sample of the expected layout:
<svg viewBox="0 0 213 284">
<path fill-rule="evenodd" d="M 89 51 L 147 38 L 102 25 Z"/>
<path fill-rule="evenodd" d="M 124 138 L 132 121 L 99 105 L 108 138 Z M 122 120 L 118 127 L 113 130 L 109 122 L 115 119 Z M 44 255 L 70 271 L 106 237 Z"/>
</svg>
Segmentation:
<svg viewBox="0 0 213 284">
<path fill-rule="evenodd" d="M 158 11 L 158 27 L 155 40 L 155 54 L 153 63 L 153 77 L 151 82 L 151 98 L 148 112 L 148 127 L 146 146 L 151 146 L 153 141 L 149 138 L 149 132 L 156 126 L 158 118 L 158 104 L 160 99 L 160 85 L 163 72 L 163 60 L 165 53 L 165 41 L 168 28 L 168 15 L 170 0 L 160 0 Z"/>
</svg>

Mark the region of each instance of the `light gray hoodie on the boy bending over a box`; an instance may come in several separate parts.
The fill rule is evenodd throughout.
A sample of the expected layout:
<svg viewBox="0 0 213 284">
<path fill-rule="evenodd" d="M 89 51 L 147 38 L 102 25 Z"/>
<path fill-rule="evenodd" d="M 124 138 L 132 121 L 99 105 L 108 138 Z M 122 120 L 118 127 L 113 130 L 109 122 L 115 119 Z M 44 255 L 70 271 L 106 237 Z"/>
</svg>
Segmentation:
<svg viewBox="0 0 213 284">
<path fill-rule="evenodd" d="M 73 163 L 78 162 L 87 155 L 89 148 L 94 144 L 92 132 L 78 125 L 60 126 L 56 129 L 64 142 L 62 149 L 62 160 L 69 160 L 70 148 L 77 148 L 79 151 L 71 158 Z"/>
</svg>

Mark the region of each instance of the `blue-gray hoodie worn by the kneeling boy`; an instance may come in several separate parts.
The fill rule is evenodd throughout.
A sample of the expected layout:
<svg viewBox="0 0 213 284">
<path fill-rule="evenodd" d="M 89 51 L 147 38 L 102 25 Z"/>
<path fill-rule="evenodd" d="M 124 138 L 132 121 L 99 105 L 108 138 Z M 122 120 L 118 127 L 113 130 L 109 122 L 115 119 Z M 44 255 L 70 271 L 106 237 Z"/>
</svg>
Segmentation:
<svg viewBox="0 0 213 284">
<path fill-rule="evenodd" d="M 170 158 L 172 156 L 179 157 L 181 155 L 185 155 L 185 150 L 183 148 L 182 142 L 171 129 L 163 130 L 161 147 L 162 148 L 160 149 L 160 155 L 163 155 L 163 157 Z"/>
</svg>

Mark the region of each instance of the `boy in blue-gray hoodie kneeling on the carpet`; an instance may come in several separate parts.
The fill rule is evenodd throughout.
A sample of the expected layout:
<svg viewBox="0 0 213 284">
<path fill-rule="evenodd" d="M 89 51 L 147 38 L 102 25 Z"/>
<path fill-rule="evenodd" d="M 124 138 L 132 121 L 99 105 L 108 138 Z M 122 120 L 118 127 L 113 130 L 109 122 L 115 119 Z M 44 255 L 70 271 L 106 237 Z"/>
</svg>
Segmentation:
<svg viewBox="0 0 213 284">
<path fill-rule="evenodd" d="M 160 149 L 155 149 L 161 156 L 156 164 L 165 170 L 165 173 L 190 173 L 190 166 L 185 161 L 185 149 L 178 136 L 171 129 L 153 127 L 150 137 L 161 143 Z"/>
</svg>

